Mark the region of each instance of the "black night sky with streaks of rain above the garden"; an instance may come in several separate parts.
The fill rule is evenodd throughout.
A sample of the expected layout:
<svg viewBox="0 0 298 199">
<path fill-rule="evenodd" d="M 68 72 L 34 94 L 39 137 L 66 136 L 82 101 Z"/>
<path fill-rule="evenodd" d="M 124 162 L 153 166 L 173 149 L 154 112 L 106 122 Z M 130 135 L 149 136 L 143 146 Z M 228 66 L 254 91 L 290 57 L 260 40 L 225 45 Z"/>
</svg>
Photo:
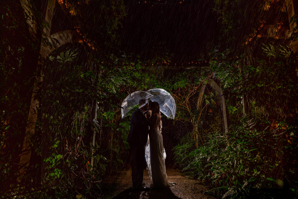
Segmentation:
<svg viewBox="0 0 298 199">
<path fill-rule="evenodd" d="M 127 16 L 121 33 L 122 50 L 150 59 L 165 52 L 183 63 L 199 57 L 215 41 L 219 29 L 213 0 L 125 0 Z"/>
</svg>

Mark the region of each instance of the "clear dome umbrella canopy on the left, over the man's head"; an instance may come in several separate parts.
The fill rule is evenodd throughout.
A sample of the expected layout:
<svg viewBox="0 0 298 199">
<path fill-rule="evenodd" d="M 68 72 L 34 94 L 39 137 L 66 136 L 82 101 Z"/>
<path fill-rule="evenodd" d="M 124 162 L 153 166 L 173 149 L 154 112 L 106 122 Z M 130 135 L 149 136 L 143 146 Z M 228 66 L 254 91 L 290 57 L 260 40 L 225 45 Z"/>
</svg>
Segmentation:
<svg viewBox="0 0 298 199">
<path fill-rule="evenodd" d="M 129 94 L 122 102 L 121 104 L 121 116 L 122 118 L 126 117 L 127 115 L 129 115 L 129 111 L 131 109 L 133 109 L 134 107 L 139 105 L 139 101 L 141 99 L 145 100 L 145 103 L 140 105 L 139 108 L 141 108 L 142 106 L 144 106 L 146 103 L 148 103 L 148 101 L 150 100 L 150 98 L 152 98 L 153 95 L 145 92 L 145 91 L 135 91 L 131 94 Z"/>
</svg>

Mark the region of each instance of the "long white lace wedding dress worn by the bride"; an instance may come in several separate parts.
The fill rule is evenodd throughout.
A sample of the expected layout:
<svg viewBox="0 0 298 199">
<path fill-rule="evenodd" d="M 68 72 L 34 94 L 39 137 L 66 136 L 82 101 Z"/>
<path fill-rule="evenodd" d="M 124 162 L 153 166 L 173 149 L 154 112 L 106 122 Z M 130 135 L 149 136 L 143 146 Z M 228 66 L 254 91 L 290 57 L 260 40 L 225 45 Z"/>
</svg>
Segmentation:
<svg viewBox="0 0 298 199">
<path fill-rule="evenodd" d="M 155 188 L 170 187 L 175 182 L 169 182 L 165 166 L 166 152 L 161 134 L 162 122 L 155 129 L 151 129 L 145 148 L 145 159 L 148 164 L 148 174 Z"/>
</svg>

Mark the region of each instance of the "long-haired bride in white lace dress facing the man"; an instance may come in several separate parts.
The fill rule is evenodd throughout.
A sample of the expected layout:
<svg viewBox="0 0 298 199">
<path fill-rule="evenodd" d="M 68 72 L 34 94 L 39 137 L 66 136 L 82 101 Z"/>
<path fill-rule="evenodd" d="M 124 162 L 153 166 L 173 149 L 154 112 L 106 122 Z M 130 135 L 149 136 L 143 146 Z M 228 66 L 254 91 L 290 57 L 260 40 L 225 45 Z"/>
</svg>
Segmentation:
<svg viewBox="0 0 298 199">
<path fill-rule="evenodd" d="M 154 188 L 174 186 L 175 182 L 169 182 L 167 179 L 164 145 L 162 141 L 162 121 L 159 111 L 159 104 L 151 102 L 149 104 L 151 112 L 149 140 L 146 145 L 145 158 L 149 168 L 149 176 L 153 182 Z"/>
</svg>

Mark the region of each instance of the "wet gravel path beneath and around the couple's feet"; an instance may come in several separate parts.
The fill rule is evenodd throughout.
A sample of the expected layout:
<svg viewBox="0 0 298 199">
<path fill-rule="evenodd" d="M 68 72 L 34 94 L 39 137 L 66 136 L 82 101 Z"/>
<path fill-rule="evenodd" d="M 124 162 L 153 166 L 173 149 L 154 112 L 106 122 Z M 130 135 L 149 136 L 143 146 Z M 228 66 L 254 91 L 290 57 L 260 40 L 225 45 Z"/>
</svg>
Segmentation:
<svg viewBox="0 0 298 199">
<path fill-rule="evenodd" d="M 124 169 L 116 177 L 111 177 L 102 183 L 103 198 L 185 198 L 185 199 L 201 199 L 212 197 L 204 194 L 208 190 L 199 181 L 182 176 L 176 169 L 167 169 L 168 180 L 176 182 L 176 186 L 164 189 L 150 189 L 148 191 L 134 191 L 131 189 L 131 169 Z M 143 183 L 150 187 L 150 178 L 148 171 L 144 170 Z"/>
</svg>

